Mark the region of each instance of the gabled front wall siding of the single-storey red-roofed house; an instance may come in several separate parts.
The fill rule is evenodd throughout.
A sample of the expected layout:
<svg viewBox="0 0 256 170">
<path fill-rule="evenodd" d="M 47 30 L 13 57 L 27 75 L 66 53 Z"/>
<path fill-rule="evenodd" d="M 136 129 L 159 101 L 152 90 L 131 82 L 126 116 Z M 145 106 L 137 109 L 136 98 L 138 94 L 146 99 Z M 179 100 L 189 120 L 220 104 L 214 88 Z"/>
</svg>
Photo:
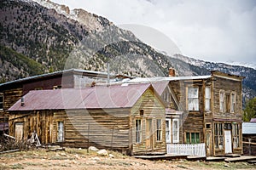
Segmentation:
<svg viewBox="0 0 256 170">
<path fill-rule="evenodd" d="M 155 98 L 154 90 L 148 88 L 148 90 L 143 94 L 143 96 L 137 101 L 131 109 L 131 139 L 132 143 L 132 154 L 137 153 L 147 153 L 152 151 L 166 152 L 166 112 L 165 106 L 162 105 L 160 99 Z M 140 115 L 140 110 L 143 110 L 143 115 Z M 136 143 L 136 120 L 142 121 L 142 142 Z M 152 120 L 152 148 L 148 148 L 146 145 L 147 137 L 147 125 L 146 121 L 148 119 Z M 156 141 L 156 120 L 161 120 L 162 127 L 162 139 L 161 141 Z"/>
</svg>

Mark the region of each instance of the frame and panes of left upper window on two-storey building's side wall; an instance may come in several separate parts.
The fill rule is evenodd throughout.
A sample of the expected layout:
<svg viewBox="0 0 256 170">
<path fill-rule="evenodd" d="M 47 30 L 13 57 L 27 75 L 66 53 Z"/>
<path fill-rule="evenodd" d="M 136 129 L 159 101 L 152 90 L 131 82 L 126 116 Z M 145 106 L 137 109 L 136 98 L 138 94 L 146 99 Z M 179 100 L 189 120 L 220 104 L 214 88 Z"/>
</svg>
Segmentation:
<svg viewBox="0 0 256 170">
<path fill-rule="evenodd" d="M 192 94 L 190 92 L 190 89 L 196 89 L 197 90 L 197 93 L 196 93 L 197 96 L 192 96 Z M 199 94 L 200 93 L 199 93 L 199 87 L 198 86 L 189 86 L 189 87 L 187 87 L 187 110 L 188 111 L 199 111 L 200 110 Z M 192 106 L 192 108 L 191 108 L 190 105 Z"/>
</svg>

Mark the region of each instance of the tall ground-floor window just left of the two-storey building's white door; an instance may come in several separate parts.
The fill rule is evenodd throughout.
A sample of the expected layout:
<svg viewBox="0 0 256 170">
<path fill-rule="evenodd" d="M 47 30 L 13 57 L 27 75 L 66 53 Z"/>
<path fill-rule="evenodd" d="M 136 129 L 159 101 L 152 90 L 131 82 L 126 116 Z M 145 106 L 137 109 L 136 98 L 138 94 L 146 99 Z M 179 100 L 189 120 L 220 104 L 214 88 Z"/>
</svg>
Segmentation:
<svg viewBox="0 0 256 170">
<path fill-rule="evenodd" d="M 214 145 L 216 149 L 222 150 L 224 147 L 224 133 L 223 133 L 223 124 L 215 123 L 214 124 Z"/>
</svg>

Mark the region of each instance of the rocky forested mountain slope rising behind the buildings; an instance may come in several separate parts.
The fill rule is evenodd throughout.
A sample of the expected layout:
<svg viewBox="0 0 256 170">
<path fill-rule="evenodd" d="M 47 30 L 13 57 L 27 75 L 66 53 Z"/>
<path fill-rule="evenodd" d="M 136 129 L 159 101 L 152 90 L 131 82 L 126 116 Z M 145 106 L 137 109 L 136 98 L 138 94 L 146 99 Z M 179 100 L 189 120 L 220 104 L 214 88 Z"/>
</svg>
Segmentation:
<svg viewBox="0 0 256 170">
<path fill-rule="evenodd" d="M 0 1 L 0 48 L 1 82 L 68 68 L 107 71 L 110 63 L 111 72 L 136 77 L 167 76 L 170 67 L 177 76 L 238 74 L 247 77 L 245 96 L 256 96 L 251 68 L 167 56 L 102 16 L 49 0 Z"/>
</svg>

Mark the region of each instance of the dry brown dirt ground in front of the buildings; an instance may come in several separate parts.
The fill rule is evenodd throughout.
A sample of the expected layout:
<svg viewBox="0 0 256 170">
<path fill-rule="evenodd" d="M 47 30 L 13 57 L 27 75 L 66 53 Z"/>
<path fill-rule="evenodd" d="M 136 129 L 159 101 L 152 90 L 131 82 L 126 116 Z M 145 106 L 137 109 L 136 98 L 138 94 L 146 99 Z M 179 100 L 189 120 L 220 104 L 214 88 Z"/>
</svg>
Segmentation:
<svg viewBox="0 0 256 170">
<path fill-rule="evenodd" d="M 112 155 L 112 156 L 111 156 Z M 108 156 L 98 156 L 96 152 L 79 149 L 62 151 L 29 150 L 0 155 L 0 169 L 256 169 L 247 162 L 227 163 L 207 161 L 147 161 L 118 152 L 108 151 Z"/>
</svg>

